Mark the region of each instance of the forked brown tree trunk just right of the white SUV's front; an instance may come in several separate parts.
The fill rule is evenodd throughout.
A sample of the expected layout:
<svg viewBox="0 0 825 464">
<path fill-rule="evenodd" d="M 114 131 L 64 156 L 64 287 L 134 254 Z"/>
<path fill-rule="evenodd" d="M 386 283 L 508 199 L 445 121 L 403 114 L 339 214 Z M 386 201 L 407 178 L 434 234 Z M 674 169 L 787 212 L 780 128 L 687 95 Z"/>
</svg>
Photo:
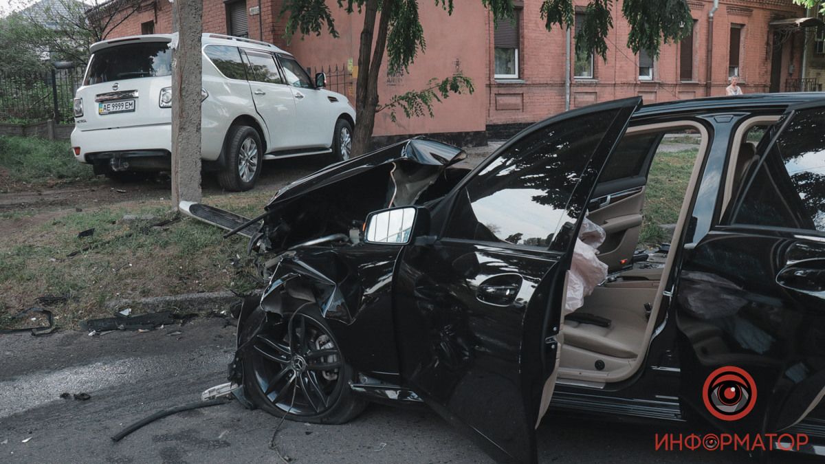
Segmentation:
<svg viewBox="0 0 825 464">
<path fill-rule="evenodd" d="M 389 32 L 389 18 L 393 14 L 394 1 L 384 0 L 381 7 L 381 18 L 378 26 L 378 36 L 375 38 L 375 48 L 372 50 L 372 59 L 369 58 L 369 50 L 364 54 L 365 35 L 361 34 L 361 55 L 358 57 L 358 85 L 356 89 L 361 97 L 356 98 L 356 127 L 352 139 L 352 153 L 356 155 L 365 154 L 370 149 L 372 130 L 375 127 L 375 110 L 378 107 L 378 78 L 381 72 L 381 62 L 384 59 L 384 51 L 387 48 L 387 33 Z M 373 21 L 375 23 L 375 21 Z M 366 25 L 365 28 L 366 30 Z M 372 28 L 370 28 L 370 42 L 372 45 Z M 366 56 L 366 58 L 365 58 Z M 368 69 L 361 69 L 361 61 L 366 59 L 369 64 Z M 362 85 L 362 78 L 365 82 Z"/>
</svg>

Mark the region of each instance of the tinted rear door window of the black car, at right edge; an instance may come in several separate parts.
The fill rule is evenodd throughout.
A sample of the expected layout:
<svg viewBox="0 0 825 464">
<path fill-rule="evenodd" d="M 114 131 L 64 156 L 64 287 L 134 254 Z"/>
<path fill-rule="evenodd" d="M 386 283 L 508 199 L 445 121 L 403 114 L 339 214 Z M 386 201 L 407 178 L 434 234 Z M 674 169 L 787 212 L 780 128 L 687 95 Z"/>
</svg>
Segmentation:
<svg viewBox="0 0 825 464">
<path fill-rule="evenodd" d="M 825 109 L 792 117 L 747 186 L 734 222 L 825 232 Z"/>
</svg>

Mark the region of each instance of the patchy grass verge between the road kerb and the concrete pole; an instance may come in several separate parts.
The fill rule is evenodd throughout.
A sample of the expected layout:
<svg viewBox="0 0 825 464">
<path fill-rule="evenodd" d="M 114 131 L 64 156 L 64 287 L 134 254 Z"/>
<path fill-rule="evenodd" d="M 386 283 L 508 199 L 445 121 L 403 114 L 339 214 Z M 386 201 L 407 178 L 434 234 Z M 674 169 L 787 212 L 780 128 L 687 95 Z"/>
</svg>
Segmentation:
<svg viewBox="0 0 825 464">
<path fill-rule="evenodd" d="M 205 202 L 257 212 L 269 196 L 271 192 L 246 192 Z M 154 218 L 125 221 L 126 214 Z M 71 211 L 40 222 L 38 217 L 43 216 L 35 215 L 26 230 L 0 242 L 0 326 L 36 305 L 38 296 L 66 296 L 66 304 L 50 310 L 60 326 L 74 328 L 80 320 L 111 315 L 106 301 L 200 291 L 245 293 L 262 285 L 247 257 L 245 238 L 223 239 L 223 230 L 186 217 L 152 227 L 174 217 L 165 201 Z M 78 232 L 92 228 L 91 237 L 78 238 Z"/>
</svg>

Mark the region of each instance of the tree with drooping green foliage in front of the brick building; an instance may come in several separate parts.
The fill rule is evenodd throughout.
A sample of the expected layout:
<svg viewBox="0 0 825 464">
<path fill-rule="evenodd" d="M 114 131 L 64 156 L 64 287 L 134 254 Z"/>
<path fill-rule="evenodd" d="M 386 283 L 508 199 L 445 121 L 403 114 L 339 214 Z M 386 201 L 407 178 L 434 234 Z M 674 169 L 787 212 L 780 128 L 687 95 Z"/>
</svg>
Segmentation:
<svg viewBox="0 0 825 464">
<path fill-rule="evenodd" d="M 434 0 L 446 14 L 454 12 L 454 0 Z M 808 0 L 800 0 L 808 1 Z M 493 19 L 512 21 L 512 0 L 481 0 L 493 14 Z M 327 0 L 285 0 L 282 14 L 287 15 L 286 36 L 320 35 L 326 30 L 338 36 L 335 21 Z M 356 124 L 353 153 L 365 153 L 375 125 L 375 112 L 380 109 L 400 108 L 406 116 L 432 114 L 432 103 L 441 101 L 450 93 L 472 92 L 469 78 L 452 76 L 435 82 L 420 92 L 407 92 L 379 104 L 378 79 L 384 55 L 389 73 L 407 73 L 419 52 L 424 53 L 427 41 L 418 16 L 417 0 L 336 0 L 332 7 L 347 13 L 361 12 L 364 26 L 358 53 L 356 81 Z M 585 7 L 586 19 L 576 36 L 576 49 L 592 50 L 602 59 L 607 57 L 607 36 L 613 27 L 613 0 L 590 0 Z M 693 21 L 686 0 L 624 0 L 622 15 L 630 25 L 627 45 L 634 53 L 647 50 L 658 55 L 661 45 L 678 41 L 691 32 Z M 527 12 L 529 14 L 530 12 Z M 573 0 L 544 0 L 537 12 L 548 31 L 554 27 L 572 28 Z"/>
</svg>

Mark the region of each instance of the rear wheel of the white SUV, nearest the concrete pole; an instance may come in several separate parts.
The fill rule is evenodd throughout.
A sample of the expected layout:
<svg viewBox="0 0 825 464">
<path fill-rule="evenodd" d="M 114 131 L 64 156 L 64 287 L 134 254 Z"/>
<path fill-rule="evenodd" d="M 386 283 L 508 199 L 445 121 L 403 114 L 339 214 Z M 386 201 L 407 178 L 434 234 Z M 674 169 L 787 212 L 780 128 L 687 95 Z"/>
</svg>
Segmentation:
<svg viewBox="0 0 825 464">
<path fill-rule="evenodd" d="M 220 187 L 244 192 L 255 187 L 261 174 L 263 147 L 257 130 L 248 125 L 229 128 L 224 143 L 224 169 L 218 174 Z"/>
</svg>

